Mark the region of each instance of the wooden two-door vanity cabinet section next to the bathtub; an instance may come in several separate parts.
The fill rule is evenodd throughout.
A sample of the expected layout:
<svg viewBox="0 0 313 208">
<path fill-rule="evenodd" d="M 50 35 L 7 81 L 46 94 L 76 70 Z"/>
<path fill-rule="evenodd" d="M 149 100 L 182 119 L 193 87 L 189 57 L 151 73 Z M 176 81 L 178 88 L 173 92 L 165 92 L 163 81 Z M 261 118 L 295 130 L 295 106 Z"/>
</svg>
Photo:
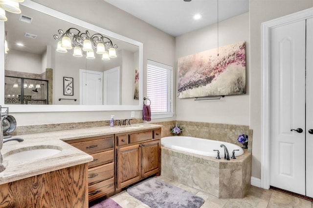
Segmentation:
<svg viewBox="0 0 313 208">
<path fill-rule="evenodd" d="M 120 138 L 127 141 L 118 143 Z M 160 173 L 160 128 L 116 134 L 116 189 Z"/>
</svg>

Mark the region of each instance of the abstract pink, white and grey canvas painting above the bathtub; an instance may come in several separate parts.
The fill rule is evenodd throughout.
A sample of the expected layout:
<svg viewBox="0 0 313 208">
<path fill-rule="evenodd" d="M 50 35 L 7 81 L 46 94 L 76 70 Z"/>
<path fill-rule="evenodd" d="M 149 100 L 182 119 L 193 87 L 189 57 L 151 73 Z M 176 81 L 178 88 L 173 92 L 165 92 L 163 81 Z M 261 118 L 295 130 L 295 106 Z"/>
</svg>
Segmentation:
<svg viewBox="0 0 313 208">
<path fill-rule="evenodd" d="M 238 42 L 178 59 L 178 97 L 246 93 L 246 44 Z"/>
</svg>

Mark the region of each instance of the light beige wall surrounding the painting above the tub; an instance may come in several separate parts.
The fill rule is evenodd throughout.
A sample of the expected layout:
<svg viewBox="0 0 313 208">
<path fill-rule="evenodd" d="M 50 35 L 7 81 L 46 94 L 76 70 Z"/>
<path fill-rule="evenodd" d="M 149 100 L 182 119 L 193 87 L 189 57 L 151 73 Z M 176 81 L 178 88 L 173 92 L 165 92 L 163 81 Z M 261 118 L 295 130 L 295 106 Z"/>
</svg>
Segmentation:
<svg viewBox="0 0 313 208">
<path fill-rule="evenodd" d="M 245 95 L 225 96 L 222 100 L 194 101 L 176 98 L 176 119 L 181 121 L 249 125 L 249 13 L 219 23 L 219 46 L 246 42 Z M 179 57 L 217 47 L 217 25 L 176 38 L 176 61 Z M 177 82 L 176 76 L 176 82 Z M 177 91 L 177 86 L 176 86 Z"/>
</svg>

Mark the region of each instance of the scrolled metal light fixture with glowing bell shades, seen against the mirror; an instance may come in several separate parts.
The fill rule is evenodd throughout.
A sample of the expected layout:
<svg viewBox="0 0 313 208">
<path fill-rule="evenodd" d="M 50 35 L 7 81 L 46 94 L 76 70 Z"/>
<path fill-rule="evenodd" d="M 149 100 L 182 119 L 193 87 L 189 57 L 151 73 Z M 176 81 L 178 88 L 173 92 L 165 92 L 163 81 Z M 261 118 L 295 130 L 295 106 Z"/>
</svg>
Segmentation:
<svg viewBox="0 0 313 208">
<path fill-rule="evenodd" d="M 58 33 L 59 35 L 54 35 L 53 38 L 58 41 L 56 51 L 60 53 L 67 53 L 67 50 L 73 49 L 75 57 L 82 57 L 83 52 L 86 53 L 87 59 L 95 59 L 94 52 L 102 54 L 102 60 L 116 57 L 117 45 L 99 33 L 90 36 L 88 30 L 82 33 L 73 27 L 67 29 L 66 32 L 59 29 Z"/>
</svg>

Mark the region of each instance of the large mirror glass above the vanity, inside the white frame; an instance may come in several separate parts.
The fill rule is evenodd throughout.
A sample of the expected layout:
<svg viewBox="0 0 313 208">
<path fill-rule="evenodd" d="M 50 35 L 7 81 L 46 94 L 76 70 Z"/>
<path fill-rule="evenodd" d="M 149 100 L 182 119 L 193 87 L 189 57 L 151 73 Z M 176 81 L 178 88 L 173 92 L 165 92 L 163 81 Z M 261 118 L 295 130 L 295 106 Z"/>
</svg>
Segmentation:
<svg viewBox="0 0 313 208">
<path fill-rule="evenodd" d="M 25 96 L 23 90 L 14 92 L 20 97 L 19 104 L 140 106 L 138 96 L 134 96 L 138 90 L 134 82 L 136 72 L 140 74 L 142 67 L 139 62 L 142 46 L 103 34 L 94 29 L 96 26 L 88 28 L 60 20 L 30 8 L 27 3 L 20 8 L 21 15 L 8 14 L 8 21 L 4 23 L 9 48 L 5 55 L 4 74 L 29 79 L 40 77 L 47 81 L 41 87 L 44 86 L 49 93 L 46 93 L 46 102 L 26 103 L 22 99 Z M 66 45 L 68 39 L 70 42 Z M 84 45 L 86 40 L 91 44 L 89 49 Z M 68 52 L 60 53 L 60 48 Z M 89 55 L 90 51 L 94 53 Z M 73 80 L 70 95 L 64 94 L 64 77 Z M 13 85 L 10 87 L 13 89 Z M 4 104 L 13 104 L 8 102 L 8 95 L 12 93 L 7 89 L 8 85 L 5 86 Z M 35 89 L 38 93 L 32 91 Z M 38 97 L 41 88 L 32 90 L 31 98 L 27 100 Z M 139 93 L 142 94 L 142 90 Z M 78 102 L 73 102 L 74 99 Z"/>
</svg>

